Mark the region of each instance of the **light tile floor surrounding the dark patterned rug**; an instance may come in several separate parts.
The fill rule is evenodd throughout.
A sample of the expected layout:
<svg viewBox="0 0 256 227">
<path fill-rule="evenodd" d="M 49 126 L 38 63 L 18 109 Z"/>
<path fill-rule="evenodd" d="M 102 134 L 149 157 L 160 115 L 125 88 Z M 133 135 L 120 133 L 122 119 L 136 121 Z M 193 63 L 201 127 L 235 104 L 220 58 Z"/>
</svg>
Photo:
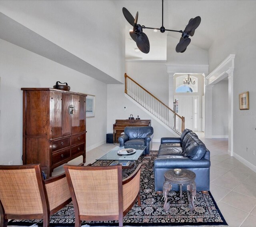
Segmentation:
<svg viewBox="0 0 256 227">
<path fill-rule="evenodd" d="M 256 227 L 256 173 L 228 154 L 228 139 L 199 138 L 210 150 L 210 191 L 229 227 Z M 104 144 L 86 152 L 86 164 L 93 163 L 117 144 Z M 153 143 L 158 150 L 160 143 Z M 70 164 L 82 162 L 78 157 Z M 63 166 L 54 169 L 53 175 L 63 172 Z"/>
</svg>

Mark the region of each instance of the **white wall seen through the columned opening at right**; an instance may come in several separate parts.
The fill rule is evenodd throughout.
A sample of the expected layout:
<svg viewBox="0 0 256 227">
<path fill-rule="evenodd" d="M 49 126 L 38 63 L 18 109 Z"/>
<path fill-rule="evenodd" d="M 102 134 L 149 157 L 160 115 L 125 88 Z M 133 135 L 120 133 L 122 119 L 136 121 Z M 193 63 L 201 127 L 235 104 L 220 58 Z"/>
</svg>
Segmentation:
<svg viewBox="0 0 256 227">
<path fill-rule="evenodd" d="M 228 81 L 222 80 L 212 88 L 212 137 L 228 137 Z"/>
</svg>

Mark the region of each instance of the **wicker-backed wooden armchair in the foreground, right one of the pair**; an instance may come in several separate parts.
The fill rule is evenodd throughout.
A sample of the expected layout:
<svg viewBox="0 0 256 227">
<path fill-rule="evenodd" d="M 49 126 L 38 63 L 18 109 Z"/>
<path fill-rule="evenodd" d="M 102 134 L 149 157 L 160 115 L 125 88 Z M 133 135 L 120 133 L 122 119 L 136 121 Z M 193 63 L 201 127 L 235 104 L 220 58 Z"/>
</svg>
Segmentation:
<svg viewBox="0 0 256 227">
<path fill-rule="evenodd" d="M 118 220 L 138 199 L 140 206 L 140 169 L 122 180 L 122 166 L 74 166 L 64 165 L 75 210 L 75 227 L 81 221 Z"/>
</svg>

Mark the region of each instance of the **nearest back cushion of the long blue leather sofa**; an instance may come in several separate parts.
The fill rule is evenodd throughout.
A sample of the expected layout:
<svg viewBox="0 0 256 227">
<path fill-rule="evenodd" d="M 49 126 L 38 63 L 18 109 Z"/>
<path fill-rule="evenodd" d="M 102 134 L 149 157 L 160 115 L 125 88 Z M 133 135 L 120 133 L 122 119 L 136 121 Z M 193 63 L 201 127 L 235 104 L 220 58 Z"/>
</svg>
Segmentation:
<svg viewBox="0 0 256 227">
<path fill-rule="evenodd" d="M 200 160 L 204 157 L 205 152 L 206 147 L 204 143 L 195 135 L 191 135 L 186 146 L 183 147 L 183 156 L 190 157 L 193 160 Z"/>
</svg>

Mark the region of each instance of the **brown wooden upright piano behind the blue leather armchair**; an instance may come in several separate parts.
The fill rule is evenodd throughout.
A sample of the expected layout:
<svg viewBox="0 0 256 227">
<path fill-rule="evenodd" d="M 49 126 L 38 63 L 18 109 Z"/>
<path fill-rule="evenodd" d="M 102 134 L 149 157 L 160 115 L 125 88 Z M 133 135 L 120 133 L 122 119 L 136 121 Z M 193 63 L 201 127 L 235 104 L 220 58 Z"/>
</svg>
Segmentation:
<svg viewBox="0 0 256 227">
<path fill-rule="evenodd" d="M 116 123 L 113 124 L 113 139 L 114 143 L 118 142 L 118 138 L 121 133 L 124 132 L 126 126 L 151 126 L 151 120 L 141 120 L 141 119 L 118 119 Z"/>
</svg>

